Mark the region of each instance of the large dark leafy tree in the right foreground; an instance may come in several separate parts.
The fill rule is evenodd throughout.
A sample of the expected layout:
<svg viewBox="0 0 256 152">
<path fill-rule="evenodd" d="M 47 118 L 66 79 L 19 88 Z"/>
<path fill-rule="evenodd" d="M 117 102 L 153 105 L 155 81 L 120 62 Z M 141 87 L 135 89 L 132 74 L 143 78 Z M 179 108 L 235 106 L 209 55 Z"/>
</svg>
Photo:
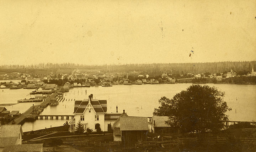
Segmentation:
<svg viewBox="0 0 256 152">
<path fill-rule="evenodd" d="M 192 85 L 172 99 L 161 97 L 160 107 L 153 114 L 169 116 L 165 123 L 180 128 L 183 133 L 216 132 L 228 120 L 225 112 L 231 110 L 223 101 L 224 95 L 214 86 Z"/>
</svg>

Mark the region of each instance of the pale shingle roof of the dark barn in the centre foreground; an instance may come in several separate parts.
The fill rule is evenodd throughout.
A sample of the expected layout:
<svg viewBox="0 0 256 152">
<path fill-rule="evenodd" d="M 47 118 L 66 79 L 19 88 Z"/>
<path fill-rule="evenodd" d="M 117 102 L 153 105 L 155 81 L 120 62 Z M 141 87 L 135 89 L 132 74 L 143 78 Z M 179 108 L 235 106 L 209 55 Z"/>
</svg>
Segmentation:
<svg viewBox="0 0 256 152">
<path fill-rule="evenodd" d="M 148 118 L 120 117 L 120 130 L 148 130 Z"/>
</svg>

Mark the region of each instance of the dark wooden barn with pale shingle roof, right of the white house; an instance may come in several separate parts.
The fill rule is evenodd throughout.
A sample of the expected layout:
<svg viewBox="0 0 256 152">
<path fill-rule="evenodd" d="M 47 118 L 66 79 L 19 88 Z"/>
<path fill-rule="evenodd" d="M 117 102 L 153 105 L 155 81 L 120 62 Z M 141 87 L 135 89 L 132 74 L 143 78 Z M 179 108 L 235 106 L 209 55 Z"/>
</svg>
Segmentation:
<svg viewBox="0 0 256 152">
<path fill-rule="evenodd" d="M 148 118 L 147 117 L 121 117 L 120 131 L 122 147 L 134 148 L 139 141 L 147 141 Z"/>
</svg>

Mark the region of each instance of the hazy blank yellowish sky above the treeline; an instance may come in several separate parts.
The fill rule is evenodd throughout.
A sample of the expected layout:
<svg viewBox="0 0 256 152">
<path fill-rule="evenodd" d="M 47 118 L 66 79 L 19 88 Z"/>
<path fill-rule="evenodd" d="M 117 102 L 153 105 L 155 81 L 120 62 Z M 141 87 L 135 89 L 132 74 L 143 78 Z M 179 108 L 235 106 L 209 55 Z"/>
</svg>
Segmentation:
<svg viewBox="0 0 256 152">
<path fill-rule="evenodd" d="M 252 60 L 255 0 L 0 2 L 0 64 Z"/>
</svg>

